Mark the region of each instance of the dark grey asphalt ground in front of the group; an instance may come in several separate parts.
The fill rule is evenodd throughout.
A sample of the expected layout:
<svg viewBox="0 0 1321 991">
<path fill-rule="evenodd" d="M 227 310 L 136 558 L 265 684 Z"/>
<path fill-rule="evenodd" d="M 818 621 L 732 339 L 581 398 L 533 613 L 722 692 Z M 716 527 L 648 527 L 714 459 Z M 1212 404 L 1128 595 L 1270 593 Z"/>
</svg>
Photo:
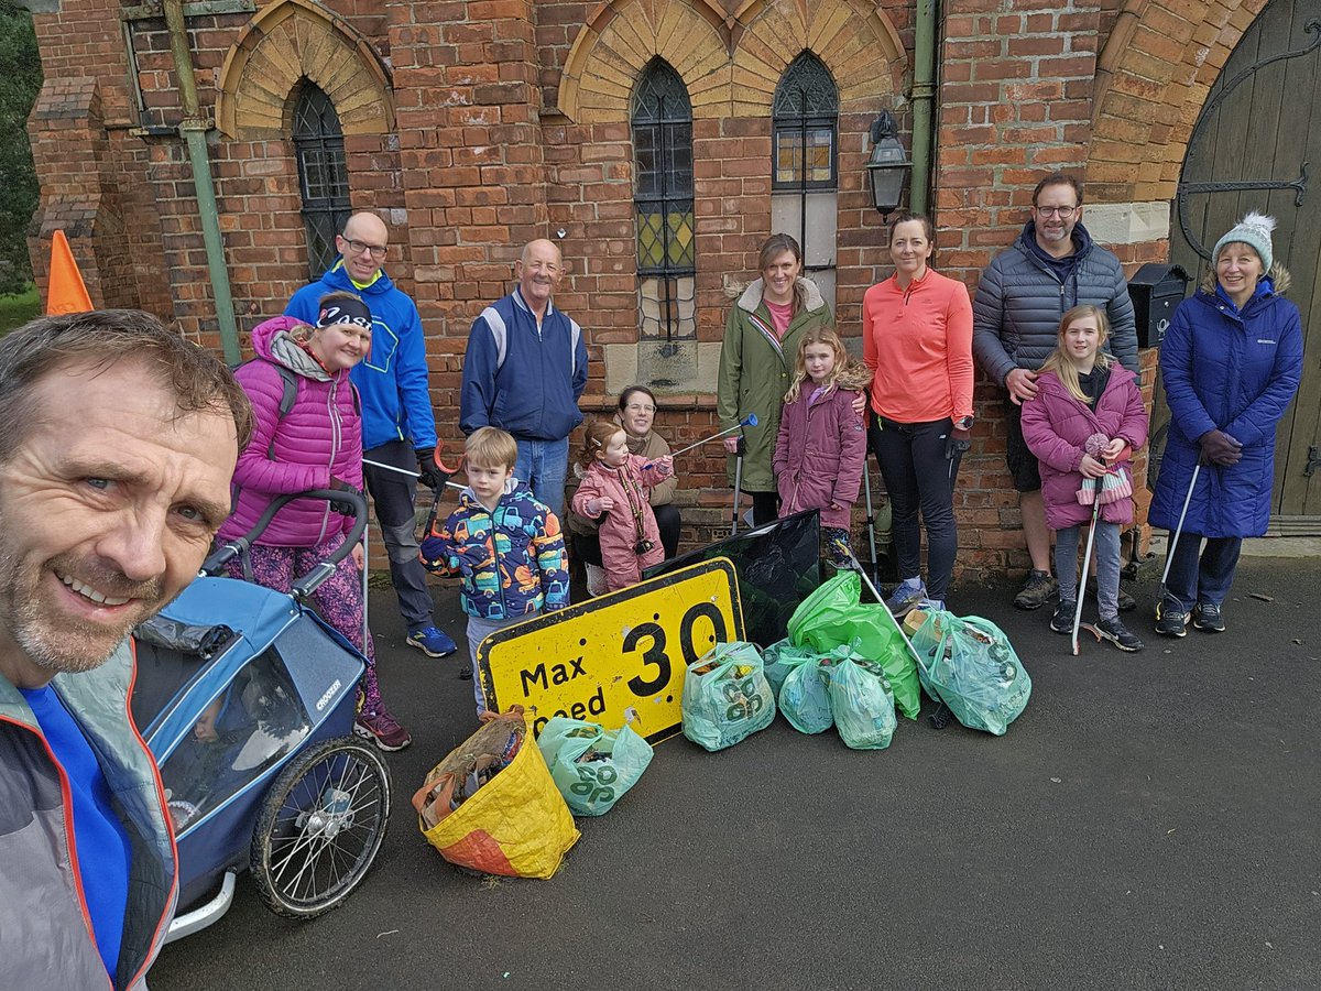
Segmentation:
<svg viewBox="0 0 1321 991">
<path fill-rule="evenodd" d="M 1321 987 L 1321 568 L 1244 559 L 1229 630 L 1074 658 L 1049 610 L 964 587 L 1033 679 L 1004 737 L 901 719 L 886 751 L 782 717 L 732 749 L 678 737 L 550 881 L 482 880 L 408 798 L 473 728 L 460 661 L 403 646 L 373 596 L 382 686 L 413 733 L 371 875 L 310 922 L 240 876 L 166 946 L 153 991 L 239 988 Z M 1256 593 L 1254 597 L 1252 593 Z M 464 642 L 454 593 L 437 618 Z M 464 661 L 466 663 L 466 659 Z"/>
</svg>

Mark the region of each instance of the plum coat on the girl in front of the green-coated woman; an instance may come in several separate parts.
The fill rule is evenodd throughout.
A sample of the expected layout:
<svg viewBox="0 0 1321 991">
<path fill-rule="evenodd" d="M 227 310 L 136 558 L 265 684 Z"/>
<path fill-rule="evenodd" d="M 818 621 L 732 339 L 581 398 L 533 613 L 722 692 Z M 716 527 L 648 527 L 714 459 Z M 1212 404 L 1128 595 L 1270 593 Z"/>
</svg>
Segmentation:
<svg viewBox="0 0 1321 991">
<path fill-rule="evenodd" d="M 819 509 L 822 526 L 849 529 L 867 462 L 867 427 L 853 399 L 869 379 L 865 366 L 851 367 L 811 402 L 816 387 L 804 378 L 798 398 L 785 403 L 773 462 L 783 515 Z"/>
</svg>

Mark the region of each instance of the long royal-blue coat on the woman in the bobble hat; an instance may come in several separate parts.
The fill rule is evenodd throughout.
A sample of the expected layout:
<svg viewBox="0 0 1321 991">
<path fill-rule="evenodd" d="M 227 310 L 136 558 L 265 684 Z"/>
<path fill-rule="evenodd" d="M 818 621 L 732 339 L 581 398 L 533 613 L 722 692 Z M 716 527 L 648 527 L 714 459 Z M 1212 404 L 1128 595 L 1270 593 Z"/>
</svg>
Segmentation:
<svg viewBox="0 0 1321 991">
<path fill-rule="evenodd" d="M 1203 465 L 1184 531 L 1260 536 L 1271 522 L 1275 428 L 1303 379 L 1303 322 L 1281 293 L 1289 277 L 1262 279 L 1238 309 L 1223 291 L 1198 292 L 1174 312 L 1160 349 L 1170 423 L 1148 521 L 1173 530 L 1211 429 L 1243 445 L 1236 465 Z"/>
</svg>

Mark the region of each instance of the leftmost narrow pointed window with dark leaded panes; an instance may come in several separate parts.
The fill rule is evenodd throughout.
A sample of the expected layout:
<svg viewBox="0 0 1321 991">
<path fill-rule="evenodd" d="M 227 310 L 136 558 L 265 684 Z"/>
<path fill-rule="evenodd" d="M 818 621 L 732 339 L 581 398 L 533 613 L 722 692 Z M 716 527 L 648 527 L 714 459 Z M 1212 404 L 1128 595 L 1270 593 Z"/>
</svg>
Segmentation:
<svg viewBox="0 0 1321 991">
<path fill-rule="evenodd" d="M 334 264 L 334 237 L 349 219 L 349 169 L 343 129 L 330 98 L 304 79 L 293 99 L 293 149 L 299 160 L 308 270 L 317 279 Z"/>
</svg>

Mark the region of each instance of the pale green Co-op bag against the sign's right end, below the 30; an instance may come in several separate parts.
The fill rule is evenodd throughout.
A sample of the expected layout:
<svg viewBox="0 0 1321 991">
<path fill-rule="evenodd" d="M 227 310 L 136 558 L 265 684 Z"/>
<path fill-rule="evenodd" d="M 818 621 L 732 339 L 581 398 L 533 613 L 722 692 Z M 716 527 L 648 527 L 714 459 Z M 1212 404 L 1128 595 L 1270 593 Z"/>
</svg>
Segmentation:
<svg viewBox="0 0 1321 991">
<path fill-rule="evenodd" d="M 688 665 L 683 678 L 683 735 L 708 751 L 723 751 L 765 729 L 775 717 L 775 695 L 752 643 L 716 643 Z"/>
</svg>

